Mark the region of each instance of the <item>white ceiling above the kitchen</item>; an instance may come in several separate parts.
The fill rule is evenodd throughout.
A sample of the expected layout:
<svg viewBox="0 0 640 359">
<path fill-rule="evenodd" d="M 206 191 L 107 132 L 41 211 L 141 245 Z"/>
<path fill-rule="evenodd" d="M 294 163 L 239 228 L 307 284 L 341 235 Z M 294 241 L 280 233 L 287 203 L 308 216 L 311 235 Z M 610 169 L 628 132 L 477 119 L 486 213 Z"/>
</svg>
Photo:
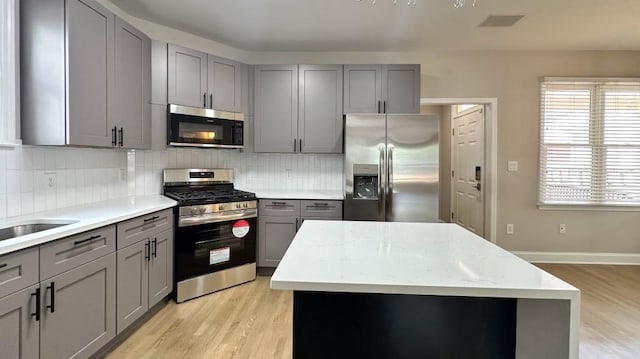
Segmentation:
<svg viewBox="0 0 640 359">
<path fill-rule="evenodd" d="M 640 50 L 640 0 L 111 0 L 133 16 L 250 51 Z M 479 28 L 488 15 L 525 15 Z"/>
</svg>

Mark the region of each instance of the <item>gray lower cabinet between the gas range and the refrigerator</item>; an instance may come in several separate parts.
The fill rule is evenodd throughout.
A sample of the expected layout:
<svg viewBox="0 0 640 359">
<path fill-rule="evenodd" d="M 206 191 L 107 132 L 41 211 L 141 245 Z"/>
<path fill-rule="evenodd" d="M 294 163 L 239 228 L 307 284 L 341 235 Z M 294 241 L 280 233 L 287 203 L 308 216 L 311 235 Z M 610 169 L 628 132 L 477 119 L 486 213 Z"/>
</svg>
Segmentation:
<svg viewBox="0 0 640 359">
<path fill-rule="evenodd" d="M 277 267 L 305 220 L 342 220 L 342 201 L 261 199 L 258 267 Z"/>
</svg>

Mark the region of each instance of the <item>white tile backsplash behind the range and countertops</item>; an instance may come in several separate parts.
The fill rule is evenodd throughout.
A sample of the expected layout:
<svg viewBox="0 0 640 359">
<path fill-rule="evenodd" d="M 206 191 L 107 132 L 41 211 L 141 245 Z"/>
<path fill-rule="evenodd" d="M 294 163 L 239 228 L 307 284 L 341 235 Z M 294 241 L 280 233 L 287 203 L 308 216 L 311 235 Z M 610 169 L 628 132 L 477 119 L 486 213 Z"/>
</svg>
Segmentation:
<svg viewBox="0 0 640 359">
<path fill-rule="evenodd" d="M 239 189 L 342 190 L 343 156 L 169 148 L 0 148 L 0 219 L 162 192 L 165 168 L 233 168 Z"/>
</svg>

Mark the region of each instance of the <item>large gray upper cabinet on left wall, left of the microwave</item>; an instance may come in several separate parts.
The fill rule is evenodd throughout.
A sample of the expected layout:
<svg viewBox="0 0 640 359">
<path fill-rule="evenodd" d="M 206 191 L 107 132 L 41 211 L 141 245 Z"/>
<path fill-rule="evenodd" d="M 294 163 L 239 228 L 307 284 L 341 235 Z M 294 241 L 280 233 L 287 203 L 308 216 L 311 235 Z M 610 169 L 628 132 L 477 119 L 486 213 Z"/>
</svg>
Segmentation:
<svg viewBox="0 0 640 359">
<path fill-rule="evenodd" d="M 20 7 L 23 143 L 148 148 L 149 39 L 95 0 Z"/>
</svg>

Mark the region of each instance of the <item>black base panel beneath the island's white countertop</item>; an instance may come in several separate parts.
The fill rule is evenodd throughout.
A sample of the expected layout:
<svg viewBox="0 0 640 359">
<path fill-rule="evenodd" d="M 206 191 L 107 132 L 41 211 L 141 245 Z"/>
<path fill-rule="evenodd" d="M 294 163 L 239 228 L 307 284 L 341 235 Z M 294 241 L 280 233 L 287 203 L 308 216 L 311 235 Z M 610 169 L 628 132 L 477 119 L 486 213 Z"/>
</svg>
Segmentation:
<svg viewBox="0 0 640 359">
<path fill-rule="evenodd" d="M 293 358 L 514 358 L 517 300 L 294 291 Z"/>
</svg>

